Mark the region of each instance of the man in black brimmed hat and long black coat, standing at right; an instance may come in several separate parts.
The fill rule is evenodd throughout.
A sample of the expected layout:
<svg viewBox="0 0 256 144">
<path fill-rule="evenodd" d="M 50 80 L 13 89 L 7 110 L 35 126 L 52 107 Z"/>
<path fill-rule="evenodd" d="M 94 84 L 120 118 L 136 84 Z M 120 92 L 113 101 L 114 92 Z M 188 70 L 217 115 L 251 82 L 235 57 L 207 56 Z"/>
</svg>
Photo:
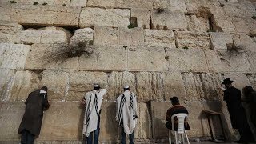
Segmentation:
<svg viewBox="0 0 256 144">
<path fill-rule="evenodd" d="M 230 113 L 232 127 L 238 129 L 240 140 L 238 143 L 254 142 L 253 135 L 248 125 L 246 113 L 241 103 L 241 91 L 232 86 L 230 78 L 224 79 L 226 90 L 224 91 L 224 101 Z"/>
</svg>

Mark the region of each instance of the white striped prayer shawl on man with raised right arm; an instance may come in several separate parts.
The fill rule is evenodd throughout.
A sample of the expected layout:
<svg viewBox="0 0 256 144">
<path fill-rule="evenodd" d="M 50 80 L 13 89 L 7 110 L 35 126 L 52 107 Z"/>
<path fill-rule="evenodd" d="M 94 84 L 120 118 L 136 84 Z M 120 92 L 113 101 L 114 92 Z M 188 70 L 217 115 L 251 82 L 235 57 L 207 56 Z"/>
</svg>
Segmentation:
<svg viewBox="0 0 256 144">
<path fill-rule="evenodd" d="M 83 130 L 82 134 L 85 134 L 86 137 L 90 135 L 90 132 L 93 132 L 94 130 L 97 129 L 98 125 L 98 114 L 97 110 L 95 108 L 95 94 L 97 95 L 97 101 L 98 101 L 98 114 L 99 111 L 101 110 L 102 106 L 102 100 L 103 100 L 103 95 L 106 94 L 106 89 L 100 89 L 98 90 L 92 90 L 85 95 L 86 99 L 86 111 L 85 111 L 85 117 L 84 117 L 84 122 L 83 122 Z M 90 102 L 90 104 L 89 104 Z M 88 110 L 89 109 L 89 110 Z M 87 115 L 90 115 L 90 120 L 88 125 L 86 126 L 86 119 Z"/>
</svg>

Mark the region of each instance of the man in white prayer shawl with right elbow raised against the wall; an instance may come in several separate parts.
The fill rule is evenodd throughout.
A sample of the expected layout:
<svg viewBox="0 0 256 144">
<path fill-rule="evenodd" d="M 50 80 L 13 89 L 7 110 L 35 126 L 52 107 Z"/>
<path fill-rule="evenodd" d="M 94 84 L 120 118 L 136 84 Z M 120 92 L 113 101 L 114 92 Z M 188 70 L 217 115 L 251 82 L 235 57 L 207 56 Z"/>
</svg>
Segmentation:
<svg viewBox="0 0 256 144">
<path fill-rule="evenodd" d="M 86 136 L 87 144 L 98 144 L 100 113 L 104 94 L 106 94 L 106 89 L 100 89 L 100 86 L 95 85 L 94 90 L 87 92 L 82 100 L 82 104 L 86 105 L 82 134 Z"/>
</svg>

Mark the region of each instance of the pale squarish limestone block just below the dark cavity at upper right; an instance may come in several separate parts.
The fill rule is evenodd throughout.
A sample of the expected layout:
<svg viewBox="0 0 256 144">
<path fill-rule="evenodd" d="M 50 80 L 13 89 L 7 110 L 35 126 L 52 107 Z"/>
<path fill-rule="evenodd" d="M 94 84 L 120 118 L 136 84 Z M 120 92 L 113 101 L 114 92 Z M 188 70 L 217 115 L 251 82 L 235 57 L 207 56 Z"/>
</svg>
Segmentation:
<svg viewBox="0 0 256 144">
<path fill-rule="evenodd" d="M 210 42 L 212 50 L 227 50 L 228 46 L 233 45 L 233 38 L 232 35 L 228 33 L 211 32 Z"/>
</svg>

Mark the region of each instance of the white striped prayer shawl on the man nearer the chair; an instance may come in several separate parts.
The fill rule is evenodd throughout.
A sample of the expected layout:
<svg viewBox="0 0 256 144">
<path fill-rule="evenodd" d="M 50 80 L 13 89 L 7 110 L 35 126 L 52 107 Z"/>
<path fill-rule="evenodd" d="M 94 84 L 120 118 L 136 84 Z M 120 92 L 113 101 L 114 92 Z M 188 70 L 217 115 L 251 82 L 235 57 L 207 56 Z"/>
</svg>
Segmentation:
<svg viewBox="0 0 256 144">
<path fill-rule="evenodd" d="M 134 128 L 137 123 L 137 118 L 134 118 L 134 116 L 137 116 L 137 98 L 134 93 L 131 93 L 129 90 L 126 90 L 123 92 L 126 101 L 123 104 L 122 107 L 122 126 L 124 127 L 124 131 L 126 134 L 132 134 L 134 132 Z M 120 103 L 122 101 L 122 94 L 119 95 L 117 99 L 117 112 L 116 112 L 116 120 L 118 121 L 118 113 L 121 109 Z M 133 108 L 130 107 L 130 97 L 133 98 Z"/>
</svg>

